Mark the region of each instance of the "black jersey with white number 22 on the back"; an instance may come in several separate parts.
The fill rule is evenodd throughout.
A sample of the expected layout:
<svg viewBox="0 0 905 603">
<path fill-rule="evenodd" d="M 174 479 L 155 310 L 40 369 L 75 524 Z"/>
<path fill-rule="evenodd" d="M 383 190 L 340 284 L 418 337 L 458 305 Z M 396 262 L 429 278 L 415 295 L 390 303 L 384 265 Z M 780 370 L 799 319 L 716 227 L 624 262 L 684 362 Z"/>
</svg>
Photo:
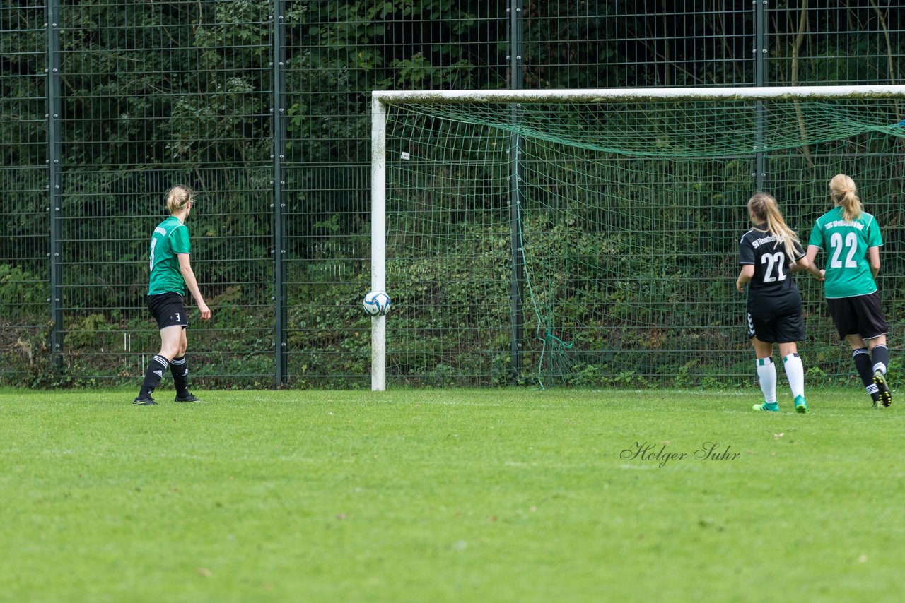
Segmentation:
<svg viewBox="0 0 905 603">
<path fill-rule="evenodd" d="M 795 243 L 795 261 L 805 257 L 805 250 Z M 742 235 L 738 240 L 738 264 L 754 266 L 754 277 L 748 285 L 748 314 L 779 316 L 795 312 L 801 307 L 801 294 L 786 257 L 786 246 L 762 224 Z"/>
</svg>

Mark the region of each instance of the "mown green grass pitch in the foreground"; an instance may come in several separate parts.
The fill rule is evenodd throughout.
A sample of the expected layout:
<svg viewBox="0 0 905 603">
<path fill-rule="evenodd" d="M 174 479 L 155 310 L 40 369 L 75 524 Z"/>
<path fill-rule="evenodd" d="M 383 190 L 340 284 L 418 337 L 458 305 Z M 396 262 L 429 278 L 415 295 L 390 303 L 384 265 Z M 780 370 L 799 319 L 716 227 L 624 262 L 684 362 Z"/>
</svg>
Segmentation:
<svg viewBox="0 0 905 603">
<path fill-rule="evenodd" d="M 899 600 L 900 407 L 758 393 L 0 391 L 0 598 Z"/>
</svg>

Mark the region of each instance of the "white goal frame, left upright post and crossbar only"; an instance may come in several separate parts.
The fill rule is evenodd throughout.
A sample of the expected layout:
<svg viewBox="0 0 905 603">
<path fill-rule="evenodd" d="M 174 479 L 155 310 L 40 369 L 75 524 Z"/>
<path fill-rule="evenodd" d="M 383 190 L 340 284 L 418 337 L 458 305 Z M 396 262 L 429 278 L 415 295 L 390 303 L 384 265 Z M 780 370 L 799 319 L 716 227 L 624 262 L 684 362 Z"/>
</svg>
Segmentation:
<svg viewBox="0 0 905 603">
<path fill-rule="evenodd" d="M 375 90 L 371 94 L 371 290 L 386 291 L 386 107 L 406 102 L 595 103 L 606 100 L 905 99 L 905 85 L 582 90 Z M 392 297 L 392 296 L 391 296 Z M 386 390 L 386 316 L 371 319 L 371 390 Z"/>
</svg>

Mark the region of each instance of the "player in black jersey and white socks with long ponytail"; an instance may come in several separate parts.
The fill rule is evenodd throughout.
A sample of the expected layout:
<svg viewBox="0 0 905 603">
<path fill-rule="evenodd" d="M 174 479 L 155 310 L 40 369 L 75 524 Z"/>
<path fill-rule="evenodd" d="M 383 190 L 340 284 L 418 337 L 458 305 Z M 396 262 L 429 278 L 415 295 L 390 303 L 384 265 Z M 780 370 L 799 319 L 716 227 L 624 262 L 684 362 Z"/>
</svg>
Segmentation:
<svg viewBox="0 0 905 603">
<path fill-rule="evenodd" d="M 755 226 L 738 240 L 741 272 L 736 289 L 743 293 L 749 284 L 748 337 L 754 345 L 757 379 L 764 392 L 764 402 L 756 404 L 754 410 L 779 410 L 772 358 L 773 344 L 778 344 L 795 411 L 807 412 L 805 369 L 795 344 L 805 338 L 805 322 L 801 294 L 790 276 L 808 267 L 805 250 L 769 194 L 755 193 L 748 200 L 748 216 Z"/>
</svg>

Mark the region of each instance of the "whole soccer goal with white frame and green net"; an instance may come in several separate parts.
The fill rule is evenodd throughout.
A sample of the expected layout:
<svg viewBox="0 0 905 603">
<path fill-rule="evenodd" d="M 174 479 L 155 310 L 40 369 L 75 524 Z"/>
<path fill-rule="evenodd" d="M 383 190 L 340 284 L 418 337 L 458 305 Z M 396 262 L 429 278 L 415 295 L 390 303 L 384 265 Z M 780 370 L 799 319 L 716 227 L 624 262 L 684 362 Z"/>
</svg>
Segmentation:
<svg viewBox="0 0 905 603">
<path fill-rule="evenodd" d="M 374 389 L 747 381 L 748 198 L 776 196 L 806 245 L 837 173 L 886 237 L 895 328 L 903 110 L 902 86 L 376 92 L 372 287 L 394 306 Z M 849 374 L 797 282 L 805 367 Z"/>
</svg>

